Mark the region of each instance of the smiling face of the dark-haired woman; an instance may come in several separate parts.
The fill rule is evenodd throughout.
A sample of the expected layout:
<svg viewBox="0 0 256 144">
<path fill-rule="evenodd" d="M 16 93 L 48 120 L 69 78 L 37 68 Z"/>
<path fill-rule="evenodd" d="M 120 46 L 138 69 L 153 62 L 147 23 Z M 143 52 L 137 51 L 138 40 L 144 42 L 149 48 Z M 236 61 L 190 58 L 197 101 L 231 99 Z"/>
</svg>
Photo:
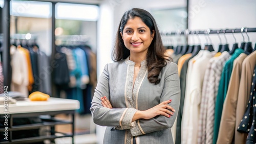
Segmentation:
<svg viewBox="0 0 256 144">
<path fill-rule="evenodd" d="M 146 55 L 155 35 L 155 31 L 151 34 L 150 28 L 139 18 L 129 19 L 124 26 L 123 38 L 124 45 L 130 50 L 130 53 L 141 53 Z"/>
</svg>

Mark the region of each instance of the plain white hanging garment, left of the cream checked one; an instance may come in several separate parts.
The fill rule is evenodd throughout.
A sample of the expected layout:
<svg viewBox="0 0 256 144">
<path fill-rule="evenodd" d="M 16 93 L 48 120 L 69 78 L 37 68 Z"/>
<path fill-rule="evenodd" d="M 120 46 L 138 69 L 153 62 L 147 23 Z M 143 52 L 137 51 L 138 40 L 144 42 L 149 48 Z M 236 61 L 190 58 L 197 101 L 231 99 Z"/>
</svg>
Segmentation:
<svg viewBox="0 0 256 144">
<path fill-rule="evenodd" d="M 191 69 L 189 91 L 186 91 L 181 121 L 181 143 L 197 143 L 198 119 L 201 103 L 201 89 L 204 73 L 216 52 L 203 51 L 202 57 L 193 61 Z"/>
</svg>

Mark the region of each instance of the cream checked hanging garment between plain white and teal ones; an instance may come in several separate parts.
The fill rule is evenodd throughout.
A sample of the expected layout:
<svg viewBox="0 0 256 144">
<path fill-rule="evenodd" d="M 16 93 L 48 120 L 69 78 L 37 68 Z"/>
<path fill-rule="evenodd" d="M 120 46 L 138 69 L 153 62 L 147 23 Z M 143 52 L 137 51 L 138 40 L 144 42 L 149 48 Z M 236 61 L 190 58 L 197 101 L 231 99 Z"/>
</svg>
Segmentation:
<svg viewBox="0 0 256 144">
<path fill-rule="evenodd" d="M 212 143 L 215 118 L 215 101 L 219 89 L 221 72 L 230 58 L 228 52 L 209 60 L 205 71 L 198 125 L 198 143 Z"/>
</svg>

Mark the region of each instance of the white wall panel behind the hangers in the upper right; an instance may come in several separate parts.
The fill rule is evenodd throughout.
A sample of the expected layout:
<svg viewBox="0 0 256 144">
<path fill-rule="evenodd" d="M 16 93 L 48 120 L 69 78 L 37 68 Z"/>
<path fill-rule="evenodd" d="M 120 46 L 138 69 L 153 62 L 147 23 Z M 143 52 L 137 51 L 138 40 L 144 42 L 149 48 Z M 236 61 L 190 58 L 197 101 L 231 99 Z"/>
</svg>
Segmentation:
<svg viewBox="0 0 256 144">
<path fill-rule="evenodd" d="M 189 30 L 220 30 L 233 28 L 255 28 L 256 27 L 256 1 L 253 0 L 191 0 L 189 1 Z M 248 41 L 247 35 L 243 34 L 245 42 Z M 256 42 L 256 33 L 248 33 L 252 47 Z M 215 50 L 218 50 L 220 40 L 217 34 L 209 35 Z M 235 33 L 239 45 L 243 41 L 241 33 Z M 225 43 L 223 34 L 220 34 L 222 43 Z M 229 49 L 232 48 L 234 38 L 232 34 L 226 34 Z M 201 44 L 205 45 L 204 35 L 200 35 Z M 189 37 L 189 42 L 192 39 Z M 195 38 L 197 43 L 197 38 Z"/>
</svg>

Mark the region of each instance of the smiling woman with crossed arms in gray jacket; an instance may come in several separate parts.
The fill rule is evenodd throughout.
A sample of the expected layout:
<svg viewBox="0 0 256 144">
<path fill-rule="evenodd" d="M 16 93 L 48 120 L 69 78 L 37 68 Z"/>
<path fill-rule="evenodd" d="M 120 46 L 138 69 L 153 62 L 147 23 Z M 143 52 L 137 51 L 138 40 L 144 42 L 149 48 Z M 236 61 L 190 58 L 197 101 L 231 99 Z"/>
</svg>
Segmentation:
<svg viewBox="0 0 256 144">
<path fill-rule="evenodd" d="M 92 100 L 103 143 L 173 143 L 180 103 L 177 65 L 164 56 L 155 19 L 142 9 L 124 13 L 113 51 Z"/>
</svg>

